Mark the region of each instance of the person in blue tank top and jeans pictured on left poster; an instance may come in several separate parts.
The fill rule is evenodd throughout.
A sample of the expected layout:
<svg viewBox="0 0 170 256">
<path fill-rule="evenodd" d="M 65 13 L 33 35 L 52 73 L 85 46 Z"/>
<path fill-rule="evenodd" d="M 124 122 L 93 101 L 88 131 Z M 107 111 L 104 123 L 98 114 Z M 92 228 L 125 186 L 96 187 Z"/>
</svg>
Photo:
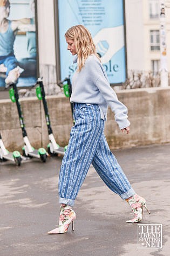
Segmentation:
<svg viewBox="0 0 170 256">
<path fill-rule="evenodd" d="M 35 31 L 35 24 L 31 24 L 30 18 L 10 21 L 9 14 L 9 0 L 0 0 L 0 72 L 6 73 L 6 84 L 16 82 L 21 73 L 13 52 L 13 44 L 18 30 Z"/>
</svg>

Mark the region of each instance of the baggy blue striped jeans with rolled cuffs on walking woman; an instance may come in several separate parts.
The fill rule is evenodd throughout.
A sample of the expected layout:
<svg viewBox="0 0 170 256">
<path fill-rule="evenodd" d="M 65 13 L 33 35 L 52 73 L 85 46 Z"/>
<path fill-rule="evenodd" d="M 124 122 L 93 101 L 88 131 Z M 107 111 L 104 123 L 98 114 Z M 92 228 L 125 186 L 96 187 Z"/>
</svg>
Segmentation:
<svg viewBox="0 0 170 256">
<path fill-rule="evenodd" d="M 92 163 L 106 185 L 122 199 L 135 192 L 108 147 L 104 120 L 97 104 L 74 103 L 70 141 L 59 174 L 59 202 L 74 205 L 79 189 Z"/>
</svg>

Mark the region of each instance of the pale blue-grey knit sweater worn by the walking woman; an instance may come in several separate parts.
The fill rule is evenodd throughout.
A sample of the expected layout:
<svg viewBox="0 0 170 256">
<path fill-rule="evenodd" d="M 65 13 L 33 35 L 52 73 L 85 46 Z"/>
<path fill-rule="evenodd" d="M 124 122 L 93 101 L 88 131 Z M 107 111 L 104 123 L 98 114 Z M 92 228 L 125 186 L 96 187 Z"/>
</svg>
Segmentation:
<svg viewBox="0 0 170 256">
<path fill-rule="evenodd" d="M 77 56 L 73 63 L 77 63 Z M 98 104 L 101 119 L 107 119 L 110 106 L 120 129 L 130 125 L 127 120 L 127 108 L 121 103 L 111 88 L 103 65 L 95 55 L 90 55 L 81 71 L 72 78 L 71 102 Z"/>
</svg>

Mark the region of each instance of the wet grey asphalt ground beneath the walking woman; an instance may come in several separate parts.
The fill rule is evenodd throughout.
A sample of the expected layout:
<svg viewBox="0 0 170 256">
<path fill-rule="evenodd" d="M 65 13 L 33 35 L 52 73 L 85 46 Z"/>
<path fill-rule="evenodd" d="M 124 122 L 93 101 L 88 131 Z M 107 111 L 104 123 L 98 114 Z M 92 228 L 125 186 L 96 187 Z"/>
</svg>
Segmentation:
<svg viewBox="0 0 170 256">
<path fill-rule="evenodd" d="M 146 198 L 141 224 L 162 224 L 162 248 L 138 248 L 138 225 L 126 201 L 90 168 L 78 194 L 74 232 L 49 235 L 58 224 L 58 175 L 62 157 L 0 163 L 1 256 L 168 256 L 170 144 L 113 152 L 135 191 Z"/>
</svg>

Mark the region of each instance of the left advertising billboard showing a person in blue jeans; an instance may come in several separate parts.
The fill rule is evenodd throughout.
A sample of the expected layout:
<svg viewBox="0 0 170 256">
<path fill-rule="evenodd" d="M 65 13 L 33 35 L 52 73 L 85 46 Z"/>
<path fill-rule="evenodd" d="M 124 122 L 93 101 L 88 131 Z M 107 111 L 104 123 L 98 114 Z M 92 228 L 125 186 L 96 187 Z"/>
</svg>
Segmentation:
<svg viewBox="0 0 170 256">
<path fill-rule="evenodd" d="M 36 82 L 36 6 L 35 0 L 0 0 L 0 87 Z"/>
</svg>

